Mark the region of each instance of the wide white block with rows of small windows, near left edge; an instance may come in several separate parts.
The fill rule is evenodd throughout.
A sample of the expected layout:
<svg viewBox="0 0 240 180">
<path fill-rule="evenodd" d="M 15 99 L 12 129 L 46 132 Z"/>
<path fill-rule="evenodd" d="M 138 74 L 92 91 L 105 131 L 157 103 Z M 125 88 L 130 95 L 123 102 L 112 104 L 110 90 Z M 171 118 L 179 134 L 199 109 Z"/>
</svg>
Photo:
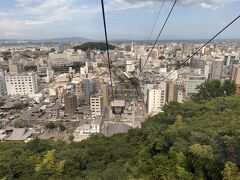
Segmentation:
<svg viewBox="0 0 240 180">
<path fill-rule="evenodd" d="M 5 76 L 8 95 L 32 95 L 38 92 L 37 73 L 22 73 Z"/>
</svg>

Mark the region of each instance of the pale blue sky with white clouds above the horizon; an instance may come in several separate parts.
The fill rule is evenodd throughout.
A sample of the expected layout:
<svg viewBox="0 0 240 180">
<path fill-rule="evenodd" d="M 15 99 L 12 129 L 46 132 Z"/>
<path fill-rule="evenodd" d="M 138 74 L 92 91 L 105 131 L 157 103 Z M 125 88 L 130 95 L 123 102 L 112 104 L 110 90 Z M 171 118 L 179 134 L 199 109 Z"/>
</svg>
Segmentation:
<svg viewBox="0 0 240 180">
<path fill-rule="evenodd" d="M 146 40 L 163 0 L 104 0 L 111 40 Z M 165 0 L 151 39 L 167 17 Z M 178 0 L 161 39 L 208 39 L 240 14 L 240 0 Z M 100 0 L 0 0 L 0 39 L 103 40 Z M 240 18 L 219 38 L 240 39 Z"/>
</svg>

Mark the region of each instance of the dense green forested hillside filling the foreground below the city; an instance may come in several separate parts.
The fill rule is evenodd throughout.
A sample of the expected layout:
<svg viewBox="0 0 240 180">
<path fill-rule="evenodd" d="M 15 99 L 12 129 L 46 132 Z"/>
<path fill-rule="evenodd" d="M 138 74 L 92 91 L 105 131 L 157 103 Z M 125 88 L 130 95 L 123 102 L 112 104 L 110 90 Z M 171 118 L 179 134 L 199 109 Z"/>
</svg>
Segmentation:
<svg viewBox="0 0 240 180">
<path fill-rule="evenodd" d="M 170 103 L 142 129 L 80 143 L 0 143 L 5 179 L 240 179 L 240 97 Z"/>
</svg>

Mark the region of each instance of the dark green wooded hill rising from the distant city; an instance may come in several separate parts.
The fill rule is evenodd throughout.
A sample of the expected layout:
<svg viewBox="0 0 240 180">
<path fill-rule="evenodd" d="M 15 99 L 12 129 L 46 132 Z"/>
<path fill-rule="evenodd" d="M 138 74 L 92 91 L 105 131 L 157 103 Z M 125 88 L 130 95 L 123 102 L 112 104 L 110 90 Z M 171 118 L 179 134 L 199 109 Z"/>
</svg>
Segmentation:
<svg viewBox="0 0 240 180">
<path fill-rule="evenodd" d="M 113 50 L 116 47 L 114 45 L 109 44 L 109 50 Z M 101 51 L 106 51 L 107 47 L 106 44 L 103 42 L 87 42 L 84 44 L 81 44 L 80 46 L 75 46 L 73 47 L 73 49 L 75 51 L 77 50 L 82 50 L 82 51 L 86 51 L 88 49 L 93 50 L 93 49 L 99 49 Z"/>
</svg>

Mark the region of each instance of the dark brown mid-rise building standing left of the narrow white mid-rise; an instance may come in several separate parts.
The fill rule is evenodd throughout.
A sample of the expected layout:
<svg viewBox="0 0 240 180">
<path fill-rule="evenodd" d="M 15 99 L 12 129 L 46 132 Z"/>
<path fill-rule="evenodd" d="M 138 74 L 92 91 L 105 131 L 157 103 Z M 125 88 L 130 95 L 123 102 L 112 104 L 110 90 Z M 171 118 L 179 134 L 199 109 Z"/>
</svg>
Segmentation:
<svg viewBox="0 0 240 180">
<path fill-rule="evenodd" d="M 67 91 L 64 94 L 64 105 L 66 114 L 74 114 L 78 107 L 77 96 L 73 92 Z"/>
</svg>

